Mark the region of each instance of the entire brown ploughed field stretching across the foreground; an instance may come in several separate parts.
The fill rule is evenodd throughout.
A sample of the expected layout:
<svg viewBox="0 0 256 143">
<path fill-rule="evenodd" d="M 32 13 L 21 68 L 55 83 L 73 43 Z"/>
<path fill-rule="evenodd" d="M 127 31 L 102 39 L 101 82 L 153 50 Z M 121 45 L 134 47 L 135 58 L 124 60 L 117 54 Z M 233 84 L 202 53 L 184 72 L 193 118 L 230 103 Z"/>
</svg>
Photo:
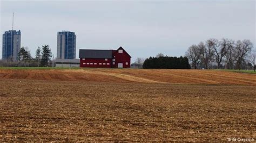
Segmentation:
<svg viewBox="0 0 256 143">
<path fill-rule="evenodd" d="M 254 85 L 211 70 L 2 69 L 0 141 L 255 139 Z"/>
</svg>

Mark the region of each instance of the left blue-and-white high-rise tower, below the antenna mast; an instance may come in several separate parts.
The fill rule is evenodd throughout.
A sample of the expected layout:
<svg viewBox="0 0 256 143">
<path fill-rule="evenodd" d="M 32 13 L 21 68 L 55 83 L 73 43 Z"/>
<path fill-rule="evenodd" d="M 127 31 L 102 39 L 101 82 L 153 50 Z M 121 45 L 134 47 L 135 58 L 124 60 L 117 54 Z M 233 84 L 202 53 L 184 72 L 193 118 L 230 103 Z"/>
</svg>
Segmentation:
<svg viewBox="0 0 256 143">
<path fill-rule="evenodd" d="M 19 49 L 21 49 L 21 31 L 5 31 L 3 34 L 2 59 L 17 61 Z"/>
</svg>

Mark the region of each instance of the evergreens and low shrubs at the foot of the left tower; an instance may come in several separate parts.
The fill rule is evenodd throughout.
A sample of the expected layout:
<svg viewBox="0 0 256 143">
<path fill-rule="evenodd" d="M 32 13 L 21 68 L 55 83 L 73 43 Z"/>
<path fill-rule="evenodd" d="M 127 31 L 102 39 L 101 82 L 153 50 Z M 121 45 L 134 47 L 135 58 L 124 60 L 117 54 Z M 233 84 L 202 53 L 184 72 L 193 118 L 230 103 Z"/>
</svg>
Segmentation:
<svg viewBox="0 0 256 143">
<path fill-rule="evenodd" d="M 12 60 L 12 57 L 7 60 L 0 61 L 0 66 L 9 67 L 51 67 L 52 53 L 49 45 L 43 45 L 36 50 L 36 58 L 32 58 L 27 47 L 21 47 L 18 53 L 18 61 Z"/>
</svg>

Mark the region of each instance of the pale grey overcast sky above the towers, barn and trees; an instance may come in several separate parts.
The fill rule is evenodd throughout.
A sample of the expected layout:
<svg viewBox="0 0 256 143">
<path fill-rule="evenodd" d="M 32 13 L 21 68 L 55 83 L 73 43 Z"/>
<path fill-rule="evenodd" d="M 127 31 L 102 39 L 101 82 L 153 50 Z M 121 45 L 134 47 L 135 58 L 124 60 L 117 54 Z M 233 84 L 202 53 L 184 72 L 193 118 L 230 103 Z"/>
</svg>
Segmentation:
<svg viewBox="0 0 256 143">
<path fill-rule="evenodd" d="M 79 49 L 117 49 L 132 56 L 184 55 L 209 38 L 250 39 L 255 45 L 255 1 L 1 1 L 1 39 L 21 30 L 21 45 L 35 56 L 50 45 L 56 57 L 57 32 L 77 35 Z M 0 40 L 2 58 L 2 40 Z"/>
</svg>

